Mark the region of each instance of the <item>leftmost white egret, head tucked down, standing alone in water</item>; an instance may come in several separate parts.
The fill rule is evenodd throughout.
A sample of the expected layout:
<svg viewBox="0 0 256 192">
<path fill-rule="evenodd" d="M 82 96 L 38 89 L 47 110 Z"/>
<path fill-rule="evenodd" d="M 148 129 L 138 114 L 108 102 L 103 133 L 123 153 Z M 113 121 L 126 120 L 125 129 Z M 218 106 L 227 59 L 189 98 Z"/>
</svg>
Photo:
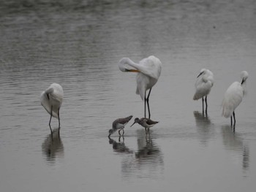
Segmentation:
<svg viewBox="0 0 256 192">
<path fill-rule="evenodd" d="M 59 118 L 59 110 L 61 108 L 63 100 L 63 89 L 61 85 L 57 83 L 53 83 L 48 87 L 45 91 L 42 91 L 40 101 L 42 107 L 45 107 L 45 110 L 50 114 L 51 118 L 58 118 L 59 120 L 59 129 L 61 128 L 60 118 Z M 49 121 L 49 126 L 50 126 Z M 50 132 L 52 133 L 52 129 L 50 127 Z"/>
</svg>

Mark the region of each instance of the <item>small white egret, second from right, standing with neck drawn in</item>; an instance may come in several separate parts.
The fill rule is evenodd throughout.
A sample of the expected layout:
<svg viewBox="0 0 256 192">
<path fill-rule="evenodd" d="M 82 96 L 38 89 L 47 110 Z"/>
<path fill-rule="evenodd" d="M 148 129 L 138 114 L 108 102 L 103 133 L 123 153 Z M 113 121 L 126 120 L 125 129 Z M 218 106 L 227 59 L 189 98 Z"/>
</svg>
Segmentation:
<svg viewBox="0 0 256 192">
<path fill-rule="evenodd" d="M 198 100 L 205 97 L 206 101 L 206 115 L 207 115 L 207 95 L 210 93 L 212 86 L 214 85 L 214 74 L 208 69 L 201 69 L 200 74 L 197 76 L 197 80 L 195 81 L 195 95 L 193 97 L 194 100 Z M 203 107 L 204 112 L 204 107 Z"/>
</svg>

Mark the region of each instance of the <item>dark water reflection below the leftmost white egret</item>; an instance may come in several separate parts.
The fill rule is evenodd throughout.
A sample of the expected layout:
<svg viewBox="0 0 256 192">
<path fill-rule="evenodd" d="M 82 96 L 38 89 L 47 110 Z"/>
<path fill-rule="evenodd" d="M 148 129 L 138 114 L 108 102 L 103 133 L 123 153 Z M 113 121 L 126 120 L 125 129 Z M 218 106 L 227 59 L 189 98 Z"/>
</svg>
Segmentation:
<svg viewBox="0 0 256 192">
<path fill-rule="evenodd" d="M 53 130 L 52 133 L 46 137 L 45 141 L 42 143 L 42 153 L 46 156 L 46 161 L 51 164 L 55 163 L 56 158 L 63 158 L 64 146 L 61 142 L 59 129 Z"/>
</svg>

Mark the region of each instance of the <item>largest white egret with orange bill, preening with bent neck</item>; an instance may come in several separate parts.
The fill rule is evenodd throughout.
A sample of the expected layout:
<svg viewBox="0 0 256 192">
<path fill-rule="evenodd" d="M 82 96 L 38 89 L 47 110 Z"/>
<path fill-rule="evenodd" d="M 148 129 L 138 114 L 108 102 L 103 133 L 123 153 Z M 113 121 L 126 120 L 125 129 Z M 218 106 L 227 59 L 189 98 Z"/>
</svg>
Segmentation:
<svg viewBox="0 0 256 192">
<path fill-rule="evenodd" d="M 136 77 L 136 94 L 140 94 L 141 99 L 144 100 L 144 116 L 146 118 L 146 103 L 148 104 L 151 89 L 157 83 L 157 80 L 161 74 L 161 61 L 159 58 L 156 58 L 153 55 L 149 56 L 148 58 L 143 58 L 139 64 L 136 64 L 129 58 L 122 58 L 119 61 L 118 66 L 121 72 L 138 72 Z M 148 89 L 148 96 L 146 96 L 146 91 Z M 149 104 L 148 118 L 150 118 Z"/>
</svg>

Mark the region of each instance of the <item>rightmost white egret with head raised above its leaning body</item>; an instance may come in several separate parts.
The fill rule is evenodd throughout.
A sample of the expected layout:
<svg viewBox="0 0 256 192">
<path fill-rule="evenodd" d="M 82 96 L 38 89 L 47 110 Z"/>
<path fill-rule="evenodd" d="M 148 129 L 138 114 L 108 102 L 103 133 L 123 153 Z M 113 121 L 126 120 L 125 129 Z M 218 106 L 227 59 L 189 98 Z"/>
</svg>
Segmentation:
<svg viewBox="0 0 256 192">
<path fill-rule="evenodd" d="M 241 82 L 233 82 L 230 87 L 227 88 L 224 99 L 222 101 L 222 116 L 224 116 L 225 118 L 230 118 L 231 126 L 233 126 L 233 131 L 235 131 L 236 126 L 235 110 L 243 99 L 245 93 L 244 85 L 247 78 L 248 72 L 241 72 Z M 234 125 L 232 122 L 232 115 L 234 119 Z"/>
</svg>

